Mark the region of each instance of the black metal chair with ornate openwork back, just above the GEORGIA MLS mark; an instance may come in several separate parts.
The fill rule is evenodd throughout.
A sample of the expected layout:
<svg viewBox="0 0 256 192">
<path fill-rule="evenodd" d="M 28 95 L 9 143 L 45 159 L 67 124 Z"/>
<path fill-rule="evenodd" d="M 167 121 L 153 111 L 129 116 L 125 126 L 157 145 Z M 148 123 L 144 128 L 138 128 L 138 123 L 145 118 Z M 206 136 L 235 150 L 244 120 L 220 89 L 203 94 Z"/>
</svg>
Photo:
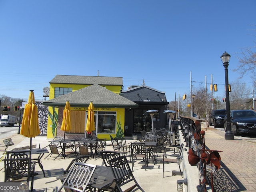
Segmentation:
<svg viewBox="0 0 256 192">
<path fill-rule="evenodd" d="M 33 191 L 35 162 L 31 158 L 6 158 L 4 159 L 4 182 L 28 182 Z"/>
</svg>

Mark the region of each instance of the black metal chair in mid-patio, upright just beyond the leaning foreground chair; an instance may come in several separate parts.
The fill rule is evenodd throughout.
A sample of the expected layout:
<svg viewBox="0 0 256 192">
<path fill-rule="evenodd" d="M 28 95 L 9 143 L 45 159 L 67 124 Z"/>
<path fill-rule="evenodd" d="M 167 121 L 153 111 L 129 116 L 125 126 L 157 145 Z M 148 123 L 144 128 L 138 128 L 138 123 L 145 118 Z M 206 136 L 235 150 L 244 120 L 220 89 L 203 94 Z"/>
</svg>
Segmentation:
<svg viewBox="0 0 256 192">
<path fill-rule="evenodd" d="M 132 170 L 134 166 L 135 159 L 137 158 L 142 158 L 145 162 L 145 170 L 146 167 L 148 166 L 148 152 L 146 149 L 146 144 L 143 143 L 131 143 L 131 156 L 132 156 Z"/>
</svg>

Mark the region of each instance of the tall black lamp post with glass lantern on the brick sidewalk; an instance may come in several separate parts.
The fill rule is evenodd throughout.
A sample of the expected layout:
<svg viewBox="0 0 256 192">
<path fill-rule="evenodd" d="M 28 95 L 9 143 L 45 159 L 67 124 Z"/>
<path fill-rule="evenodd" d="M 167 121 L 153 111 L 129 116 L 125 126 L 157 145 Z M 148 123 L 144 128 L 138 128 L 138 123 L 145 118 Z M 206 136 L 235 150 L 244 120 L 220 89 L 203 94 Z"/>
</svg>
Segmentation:
<svg viewBox="0 0 256 192">
<path fill-rule="evenodd" d="M 231 131 L 230 124 L 230 102 L 229 102 L 229 91 L 228 91 L 228 62 L 230 60 L 230 54 L 224 52 L 222 56 L 220 56 L 223 66 L 225 68 L 225 86 L 226 86 L 226 116 L 227 116 L 227 129 L 225 133 L 226 140 L 234 140 L 234 134 Z"/>
</svg>

